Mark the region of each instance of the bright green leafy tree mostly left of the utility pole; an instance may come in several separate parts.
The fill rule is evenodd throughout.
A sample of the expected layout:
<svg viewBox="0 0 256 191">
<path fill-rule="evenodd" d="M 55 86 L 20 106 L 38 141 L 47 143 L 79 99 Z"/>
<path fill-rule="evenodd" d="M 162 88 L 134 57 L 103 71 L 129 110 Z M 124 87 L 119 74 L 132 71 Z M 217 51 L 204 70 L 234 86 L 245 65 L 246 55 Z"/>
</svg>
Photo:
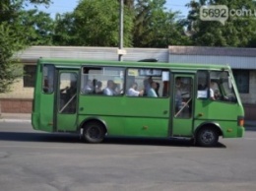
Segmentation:
<svg viewBox="0 0 256 191">
<path fill-rule="evenodd" d="M 124 12 L 124 44 L 131 46 L 133 18 Z M 112 0 L 82 0 L 73 13 L 58 18 L 54 43 L 62 45 L 117 46 L 119 3 Z"/>
</svg>

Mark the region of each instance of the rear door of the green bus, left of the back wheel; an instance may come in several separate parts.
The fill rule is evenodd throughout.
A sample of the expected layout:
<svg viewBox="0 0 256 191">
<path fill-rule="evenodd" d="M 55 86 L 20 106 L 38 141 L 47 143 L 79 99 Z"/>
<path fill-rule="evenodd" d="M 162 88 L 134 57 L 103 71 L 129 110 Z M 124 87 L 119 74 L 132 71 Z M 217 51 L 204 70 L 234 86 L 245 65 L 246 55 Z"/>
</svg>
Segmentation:
<svg viewBox="0 0 256 191">
<path fill-rule="evenodd" d="M 77 130 L 79 70 L 58 70 L 55 131 Z"/>
</svg>

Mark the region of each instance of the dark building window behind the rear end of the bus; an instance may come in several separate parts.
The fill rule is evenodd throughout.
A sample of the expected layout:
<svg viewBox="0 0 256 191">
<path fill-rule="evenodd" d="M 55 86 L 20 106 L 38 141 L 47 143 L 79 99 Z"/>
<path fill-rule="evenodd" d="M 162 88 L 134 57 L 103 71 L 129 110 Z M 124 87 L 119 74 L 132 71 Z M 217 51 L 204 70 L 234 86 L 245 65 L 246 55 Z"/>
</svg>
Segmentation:
<svg viewBox="0 0 256 191">
<path fill-rule="evenodd" d="M 26 88 L 33 88 L 35 82 L 35 65 L 25 65 L 24 66 L 24 87 Z"/>
</svg>

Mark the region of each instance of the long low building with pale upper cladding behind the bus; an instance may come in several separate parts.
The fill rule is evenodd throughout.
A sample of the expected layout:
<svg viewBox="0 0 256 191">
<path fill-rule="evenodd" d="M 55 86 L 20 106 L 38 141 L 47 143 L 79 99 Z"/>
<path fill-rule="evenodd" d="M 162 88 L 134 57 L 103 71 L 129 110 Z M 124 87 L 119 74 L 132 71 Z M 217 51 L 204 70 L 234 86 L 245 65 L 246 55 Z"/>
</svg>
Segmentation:
<svg viewBox="0 0 256 191">
<path fill-rule="evenodd" d="M 228 64 L 233 70 L 247 119 L 256 117 L 256 49 L 200 46 L 126 48 L 123 60 L 157 58 L 160 62 Z M 32 46 L 17 54 L 26 75 L 0 94 L 2 112 L 31 112 L 35 63 L 39 57 L 117 60 L 115 47 Z"/>
</svg>

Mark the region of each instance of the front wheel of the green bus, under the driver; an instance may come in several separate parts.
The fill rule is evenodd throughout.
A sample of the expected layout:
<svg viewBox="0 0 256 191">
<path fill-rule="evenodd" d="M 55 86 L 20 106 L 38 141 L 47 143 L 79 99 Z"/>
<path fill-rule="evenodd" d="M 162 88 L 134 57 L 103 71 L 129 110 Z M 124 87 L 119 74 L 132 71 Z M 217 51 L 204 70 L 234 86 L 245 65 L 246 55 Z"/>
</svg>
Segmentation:
<svg viewBox="0 0 256 191">
<path fill-rule="evenodd" d="M 201 147 L 214 147 L 219 141 L 219 134 L 213 127 L 203 127 L 196 134 L 196 144 Z"/>
</svg>

